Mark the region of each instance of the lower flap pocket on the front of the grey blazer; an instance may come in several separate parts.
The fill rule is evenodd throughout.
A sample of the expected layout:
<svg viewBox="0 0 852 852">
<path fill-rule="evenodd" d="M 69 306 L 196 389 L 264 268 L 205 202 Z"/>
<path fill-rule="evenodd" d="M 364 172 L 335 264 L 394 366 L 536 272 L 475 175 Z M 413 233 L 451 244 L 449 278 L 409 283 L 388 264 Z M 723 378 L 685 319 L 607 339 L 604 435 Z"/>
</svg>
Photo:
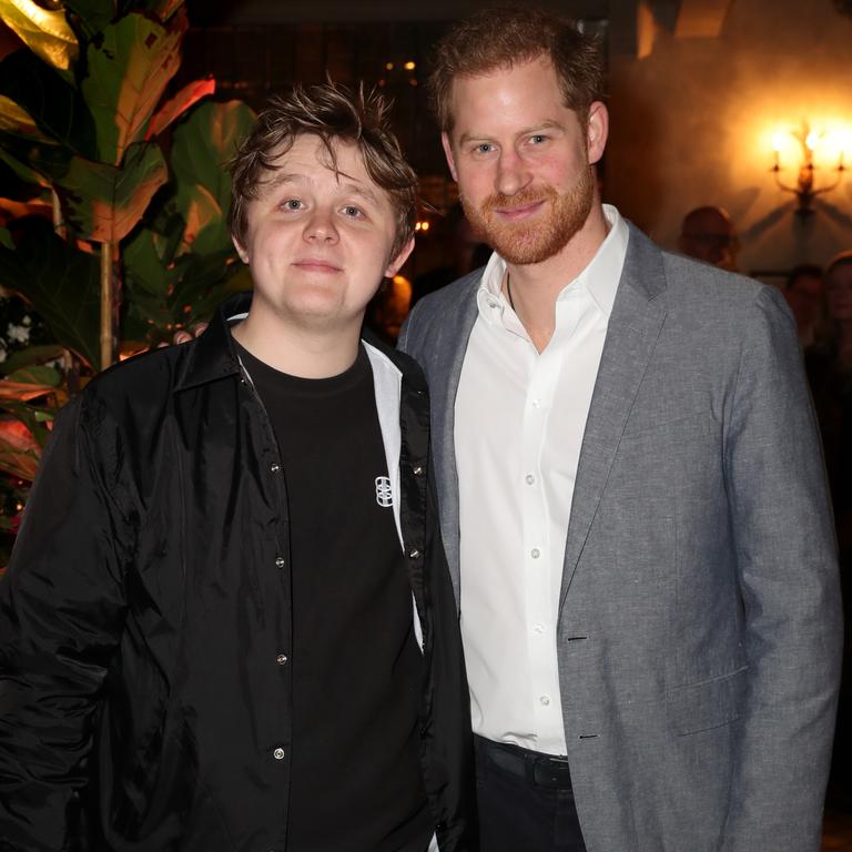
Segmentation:
<svg viewBox="0 0 852 852">
<path fill-rule="evenodd" d="M 698 733 L 738 719 L 746 698 L 749 667 L 669 692 L 669 718 L 679 736 Z"/>
</svg>

